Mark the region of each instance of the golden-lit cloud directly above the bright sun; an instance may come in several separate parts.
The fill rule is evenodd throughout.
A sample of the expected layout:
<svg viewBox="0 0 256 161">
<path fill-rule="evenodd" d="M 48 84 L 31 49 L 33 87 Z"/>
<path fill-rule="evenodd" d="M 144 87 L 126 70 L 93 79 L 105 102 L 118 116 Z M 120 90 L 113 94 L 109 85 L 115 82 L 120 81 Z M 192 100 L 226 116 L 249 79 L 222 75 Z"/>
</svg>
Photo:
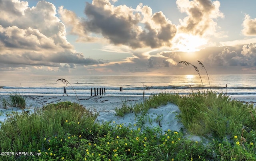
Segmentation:
<svg viewBox="0 0 256 161">
<path fill-rule="evenodd" d="M 188 16 L 180 19 L 179 30 L 193 35 L 216 35 L 218 30 L 217 18 L 223 18 L 220 12 L 220 2 L 211 0 L 177 0 L 180 12 Z"/>
</svg>

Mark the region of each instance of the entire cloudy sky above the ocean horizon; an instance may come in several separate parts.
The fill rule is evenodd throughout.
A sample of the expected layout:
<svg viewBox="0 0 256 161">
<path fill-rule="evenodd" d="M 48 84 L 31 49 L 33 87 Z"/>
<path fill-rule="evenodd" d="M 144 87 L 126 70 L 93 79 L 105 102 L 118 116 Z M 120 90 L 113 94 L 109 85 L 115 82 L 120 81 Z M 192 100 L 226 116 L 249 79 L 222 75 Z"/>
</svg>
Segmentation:
<svg viewBox="0 0 256 161">
<path fill-rule="evenodd" d="M 256 74 L 256 0 L 0 0 L 0 75 Z M 201 74 L 204 74 L 201 71 Z"/>
</svg>

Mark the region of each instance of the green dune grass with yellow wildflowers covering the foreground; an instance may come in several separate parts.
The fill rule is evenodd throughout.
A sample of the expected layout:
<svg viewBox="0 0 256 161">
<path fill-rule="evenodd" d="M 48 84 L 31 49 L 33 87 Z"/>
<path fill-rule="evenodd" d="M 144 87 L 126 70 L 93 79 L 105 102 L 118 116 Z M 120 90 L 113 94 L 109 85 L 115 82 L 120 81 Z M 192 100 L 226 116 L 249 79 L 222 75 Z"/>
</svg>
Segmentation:
<svg viewBox="0 0 256 161">
<path fill-rule="evenodd" d="M 2 122 L 0 151 L 33 152 L 33 156 L 0 156 L 1 160 L 255 160 L 255 110 L 212 91 L 188 96 L 152 94 L 144 104 L 128 109 L 157 108 L 172 102 L 179 118 L 192 133 L 205 136 L 193 141 L 183 132 L 160 127 L 124 126 L 116 122 L 95 123 L 98 113 L 71 102 L 36 108 L 33 114 L 14 114 Z M 137 107 L 138 106 L 138 107 Z M 132 107 L 132 108 L 131 108 Z M 137 111 L 138 110 L 138 111 Z M 144 112 L 144 113 L 143 113 Z M 144 117 L 145 119 L 146 116 Z M 161 116 L 158 117 L 161 120 Z M 150 120 L 148 120 L 150 121 Z M 152 120 L 151 120 L 152 121 Z M 242 130 L 244 129 L 244 130 Z M 211 135 L 208 135 L 211 134 Z M 242 139 L 244 138 L 244 139 Z M 35 155 L 40 153 L 40 155 Z"/>
</svg>

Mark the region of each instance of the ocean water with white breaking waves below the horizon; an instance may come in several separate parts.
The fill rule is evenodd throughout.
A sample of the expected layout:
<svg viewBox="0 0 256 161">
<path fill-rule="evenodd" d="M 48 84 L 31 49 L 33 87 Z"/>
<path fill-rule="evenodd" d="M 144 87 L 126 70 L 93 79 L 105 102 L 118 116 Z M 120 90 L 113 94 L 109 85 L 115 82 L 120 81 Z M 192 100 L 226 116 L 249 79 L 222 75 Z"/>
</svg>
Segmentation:
<svg viewBox="0 0 256 161">
<path fill-rule="evenodd" d="M 172 92 L 188 94 L 198 90 L 212 89 L 230 96 L 256 96 L 256 75 L 165 75 L 165 76 L 0 76 L 0 95 L 19 93 L 23 95 L 90 96 L 91 88 L 105 88 L 108 96 L 141 96 Z M 58 79 L 66 79 L 64 84 Z M 203 82 L 203 86 L 202 86 Z M 209 83 L 210 82 L 210 83 Z M 72 88 L 73 87 L 73 88 Z M 122 87 L 122 91 L 120 91 Z M 98 92 L 100 94 L 100 92 Z"/>
</svg>

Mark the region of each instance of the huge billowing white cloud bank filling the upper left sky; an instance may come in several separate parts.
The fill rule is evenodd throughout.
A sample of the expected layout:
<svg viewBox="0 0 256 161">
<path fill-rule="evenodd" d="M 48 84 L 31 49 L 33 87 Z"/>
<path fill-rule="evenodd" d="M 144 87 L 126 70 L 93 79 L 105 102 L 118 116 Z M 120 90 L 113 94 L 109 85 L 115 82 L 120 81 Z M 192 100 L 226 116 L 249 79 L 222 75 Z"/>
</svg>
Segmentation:
<svg viewBox="0 0 256 161">
<path fill-rule="evenodd" d="M 104 63 L 85 58 L 66 39 L 66 27 L 46 1 L 0 0 L 0 63 L 8 67 L 66 67 Z M 40 69 L 40 68 L 38 68 Z"/>
</svg>

